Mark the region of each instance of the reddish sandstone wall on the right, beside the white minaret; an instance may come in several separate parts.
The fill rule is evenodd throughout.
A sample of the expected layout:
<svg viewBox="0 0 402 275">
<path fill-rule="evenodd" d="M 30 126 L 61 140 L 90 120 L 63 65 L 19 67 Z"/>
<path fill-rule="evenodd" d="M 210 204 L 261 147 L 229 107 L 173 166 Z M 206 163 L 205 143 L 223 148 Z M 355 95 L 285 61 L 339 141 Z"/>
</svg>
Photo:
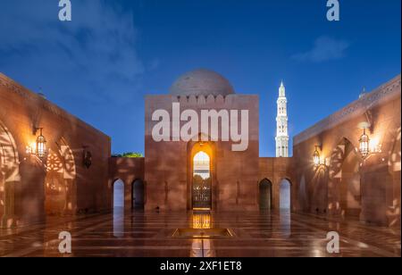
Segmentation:
<svg viewBox="0 0 402 275">
<path fill-rule="evenodd" d="M 398 76 L 294 138 L 298 211 L 400 225 L 400 92 Z M 358 152 L 362 122 L 381 149 L 366 159 Z M 322 146 L 318 168 L 314 146 Z"/>
</svg>

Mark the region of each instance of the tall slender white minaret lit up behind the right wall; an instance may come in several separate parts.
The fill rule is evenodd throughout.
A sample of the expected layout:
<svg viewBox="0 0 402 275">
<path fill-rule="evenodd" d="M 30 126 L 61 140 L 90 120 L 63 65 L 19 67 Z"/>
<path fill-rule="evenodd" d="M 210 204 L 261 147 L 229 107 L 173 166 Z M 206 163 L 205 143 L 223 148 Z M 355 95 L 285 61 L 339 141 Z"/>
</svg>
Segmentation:
<svg viewBox="0 0 402 275">
<path fill-rule="evenodd" d="M 276 157 L 289 157 L 288 110 L 286 89 L 281 82 L 278 97 L 278 115 L 276 117 Z"/>
</svg>

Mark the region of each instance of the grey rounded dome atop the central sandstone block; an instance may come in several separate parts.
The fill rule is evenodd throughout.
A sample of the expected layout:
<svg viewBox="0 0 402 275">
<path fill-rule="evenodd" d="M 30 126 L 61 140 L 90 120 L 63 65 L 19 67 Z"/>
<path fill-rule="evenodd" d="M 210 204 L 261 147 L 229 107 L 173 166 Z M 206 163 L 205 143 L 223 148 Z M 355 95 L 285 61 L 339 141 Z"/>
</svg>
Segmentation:
<svg viewBox="0 0 402 275">
<path fill-rule="evenodd" d="M 228 79 L 205 69 L 183 74 L 173 83 L 170 91 L 173 96 L 228 96 L 235 93 Z"/>
</svg>

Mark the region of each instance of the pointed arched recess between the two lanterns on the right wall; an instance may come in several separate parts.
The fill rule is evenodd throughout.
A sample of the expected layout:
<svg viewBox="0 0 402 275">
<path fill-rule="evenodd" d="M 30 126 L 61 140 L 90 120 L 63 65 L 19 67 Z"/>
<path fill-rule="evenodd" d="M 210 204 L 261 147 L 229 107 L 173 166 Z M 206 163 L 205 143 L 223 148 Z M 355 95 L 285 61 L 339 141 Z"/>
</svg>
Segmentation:
<svg viewBox="0 0 402 275">
<path fill-rule="evenodd" d="M 342 216 L 359 217 L 361 212 L 360 161 L 355 146 L 343 138 L 331 155 L 331 208 Z"/>
</svg>

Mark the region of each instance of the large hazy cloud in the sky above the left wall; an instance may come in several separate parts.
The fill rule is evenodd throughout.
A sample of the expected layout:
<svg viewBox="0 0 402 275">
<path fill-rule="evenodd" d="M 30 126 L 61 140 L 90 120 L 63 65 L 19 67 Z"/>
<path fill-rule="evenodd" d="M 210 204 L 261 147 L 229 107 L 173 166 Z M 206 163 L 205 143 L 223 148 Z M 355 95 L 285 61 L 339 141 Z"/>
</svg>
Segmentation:
<svg viewBox="0 0 402 275">
<path fill-rule="evenodd" d="M 20 74 L 46 75 L 49 82 L 57 74 L 64 86 L 58 92 L 67 86 L 70 96 L 128 99 L 147 70 L 136 51 L 132 12 L 105 0 L 72 2 L 71 22 L 59 21 L 58 12 L 58 1 L 2 3 L 0 70 L 18 66 Z"/>
</svg>

